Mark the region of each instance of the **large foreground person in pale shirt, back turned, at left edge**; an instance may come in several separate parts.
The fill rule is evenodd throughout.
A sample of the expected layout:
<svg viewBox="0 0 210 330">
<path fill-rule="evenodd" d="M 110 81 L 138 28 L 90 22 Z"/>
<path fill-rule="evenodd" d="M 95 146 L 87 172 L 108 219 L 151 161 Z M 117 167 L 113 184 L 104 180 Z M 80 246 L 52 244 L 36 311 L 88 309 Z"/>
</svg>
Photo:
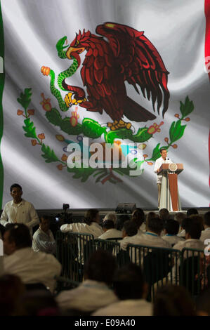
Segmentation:
<svg viewBox="0 0 210 330">
<path fill-rule="evenodd" d="M 23 223 L 11 223 L 4 233 L 4 272 L 17 275 L 24 284 L 41 283 L 53 291 L 61 265 L 51 254 L 34 252 L 29 229 Z"/>
</svg>

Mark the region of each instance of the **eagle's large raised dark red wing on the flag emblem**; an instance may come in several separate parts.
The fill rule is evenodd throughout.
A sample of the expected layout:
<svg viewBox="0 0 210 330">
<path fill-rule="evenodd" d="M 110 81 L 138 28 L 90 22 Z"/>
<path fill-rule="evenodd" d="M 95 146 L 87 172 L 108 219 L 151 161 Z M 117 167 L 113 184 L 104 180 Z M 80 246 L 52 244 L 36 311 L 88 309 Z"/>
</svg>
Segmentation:
<svg viewBox="0 0 210 330">
<path fill-rule="evenodd" d="M 109 40 L 117 65 L 124 74 L 124 81 L 133 85 L 137 92 L 136 84 L 138 84 L 148 100 L 152 96 L 153 109 L 155 111 L 157 101 L 158 114 L 163 103 L 164 117 L 169 106 L 170 94 L 167 88 L 169 72 L 155 46 L 143 32 L 126 25 L 105 22 L 96 27 L 96 32 Z"/>
</svg>

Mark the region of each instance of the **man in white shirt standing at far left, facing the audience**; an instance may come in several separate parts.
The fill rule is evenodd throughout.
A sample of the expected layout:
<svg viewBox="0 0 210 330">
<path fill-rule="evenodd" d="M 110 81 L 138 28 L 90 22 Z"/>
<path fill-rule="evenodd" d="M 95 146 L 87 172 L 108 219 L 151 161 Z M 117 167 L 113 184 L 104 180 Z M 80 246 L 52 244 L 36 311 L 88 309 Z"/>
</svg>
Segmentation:
<svg viewBox="0 0 210 330">
<path fill-rule="evenodd" d="M 1 213 L 1 225 L 24 223 L 29 227 L 32 235 L 32 228 L 39 223 L 39 217 L 34 206 L 22 199 L 22 187 L 18 183 L 11 185 L 11 197 L 13 197 L 13 200 L 6 203 Z"/>
</svg>

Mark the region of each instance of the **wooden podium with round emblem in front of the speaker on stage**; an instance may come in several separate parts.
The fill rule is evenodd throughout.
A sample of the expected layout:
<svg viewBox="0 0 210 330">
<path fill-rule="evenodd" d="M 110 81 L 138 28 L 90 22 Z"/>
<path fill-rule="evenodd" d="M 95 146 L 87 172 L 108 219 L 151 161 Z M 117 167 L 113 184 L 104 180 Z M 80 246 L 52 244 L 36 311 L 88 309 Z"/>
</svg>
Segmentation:
<svg viewBox="0 0 210 330">
<path fill-rule="evenodd" d="M 158 174 L 162 174 L 159 209 L 181 211 L 178 195 L 178 174 L 183 171 L 183 164 L 162 164 Z"/>
</svg>

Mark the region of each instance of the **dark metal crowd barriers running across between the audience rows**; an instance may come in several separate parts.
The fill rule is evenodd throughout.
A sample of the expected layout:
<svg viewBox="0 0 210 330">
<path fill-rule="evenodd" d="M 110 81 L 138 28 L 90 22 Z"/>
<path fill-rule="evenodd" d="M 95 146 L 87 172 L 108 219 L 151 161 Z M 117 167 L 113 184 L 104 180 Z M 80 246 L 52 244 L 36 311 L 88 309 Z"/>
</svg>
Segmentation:
<svg viewBox="0 0 210 330">
<path fill-rule="evenodd" d="M 67 283 L 82 282 L 84 264 L 91 253 L 98 249 L 110 251 L 117 258 L 118 267 L 135 263 L 141 265 L 149 286 L 148 299 L 158 286 L 166 283 L 185 286 L 192 296 L 197 296 L 207 284 L 207 260 L 204 251 L 195 249 L 164 249 L 129 244 L 120 249 L 118 238 L 94 239 L 93 235 L 75 232 L 56 234 L 57 258 L 63 266 L 62 276 Z M 62 288 L 65 289 L 65 288 Z"/>
</svg>

